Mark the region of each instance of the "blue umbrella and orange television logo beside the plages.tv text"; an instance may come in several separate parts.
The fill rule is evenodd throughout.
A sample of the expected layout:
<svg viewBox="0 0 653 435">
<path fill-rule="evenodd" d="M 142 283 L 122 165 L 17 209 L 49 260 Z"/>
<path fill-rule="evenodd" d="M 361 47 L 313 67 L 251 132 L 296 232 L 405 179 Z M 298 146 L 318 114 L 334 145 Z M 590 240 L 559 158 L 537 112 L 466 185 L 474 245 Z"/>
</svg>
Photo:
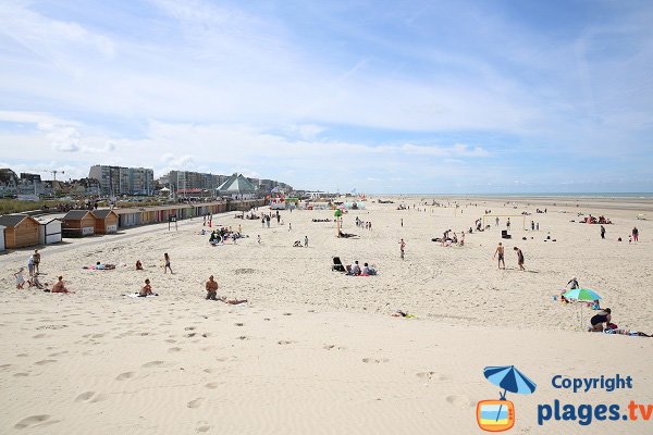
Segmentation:
<svg viewBox="0 0 653 435">
<path fill-rule="evenodd" d="M 488 432 L 508 431 L 515 425 L 515 405 L 506 400 L 506 393 L 532 394 L 535 383 L 529 380 L 515 365 L 486 366 L 483 375 L 503 389 L 498 400 L 481 400 L 477 405 L 479 427 Z"/>
</svg>

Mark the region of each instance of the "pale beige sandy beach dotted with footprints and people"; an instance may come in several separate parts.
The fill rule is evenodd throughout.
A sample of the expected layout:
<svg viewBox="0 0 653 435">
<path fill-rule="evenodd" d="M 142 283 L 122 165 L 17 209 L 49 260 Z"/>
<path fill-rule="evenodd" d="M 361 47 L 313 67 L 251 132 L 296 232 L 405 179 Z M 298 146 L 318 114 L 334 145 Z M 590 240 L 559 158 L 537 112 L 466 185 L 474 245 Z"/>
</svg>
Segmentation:
<svg viewBox="0 0 653 435">
<path fill-rule="evenodd" d="M 576 275 L 603 296 L 620 327 L 653 333 L 653 224 L 636 219 L 649 202 L 558 201 L 537 214 L 545 200 L 475 198 L 467 202 L 478 207 L 417 206 L 422 211 L 396 210 L 420 197 L 394 200 L 345 215 L 344 231 L 359 239 L 337 239 L 334 223 L 311 222 L 333 219 L 331 211 L 285 211 L 285 225 L 272 221 L 271 228 L 233 213 L 215 216 L 214 223 L 243 226 L 249 238 L 235 246 L 210 247 L 195 219 L 180 222 L 177 232 L 151 225 L 45 247 L 41 281 L 62 274 L 74 295 L 16 290 L 12 274 L 30 250 L 0 257 L 0 433 L 482 433 L 477 402 L 498 398 L 482 370 L 509 364 L 538 384 L 533 395 L 508 393 L 517 410 L 509 433 L 650 431 L 653 422 L 641 420 L 537 421 L 538 405 L 555 399 L 653 403 L 653 341 L 589 334 L 590 308 L 553 300 Z M 464 247 L 431 241 L 445 229 L 473 226 L 484 209 L 529 211 L 527 223 L 540 223 L 539 232 L 523 231 L 522 219 L 510 217 L 506 271 L 492 260 L 505 228 L 493 219 L 490 231 L 467 234 Z M 597 225 L 569 222 L 578 212 L 615 222 L 606 225 L 606 239 Z M 356 227 L 355 216 L 371 221 L 372 231 Z M 640 241 L 628 244 L 634 225 Z M 293 248 L 304 236 L 309 247 Z M 517 270 L 513 246 L 523 250 L 527 272 Z M 174 275 L 163 274 L 163 252 Z M 370 262 L 380 274 L 332 272 L 333 256 Z M 134 270 L 136 259 L 145 271 Z M 96 261 L 118 269 L 82 269 Z M 219 295 L 249 302 L 205 300 L 210 274 Z M 121 296 L 146 277 L 159 297 Z M 416 318 L 392 318 L 398 309 Z M 556 374 L 616 373 L 631 375 L 633 388 L 574 394 L 551 385 Z"/>
</svg>

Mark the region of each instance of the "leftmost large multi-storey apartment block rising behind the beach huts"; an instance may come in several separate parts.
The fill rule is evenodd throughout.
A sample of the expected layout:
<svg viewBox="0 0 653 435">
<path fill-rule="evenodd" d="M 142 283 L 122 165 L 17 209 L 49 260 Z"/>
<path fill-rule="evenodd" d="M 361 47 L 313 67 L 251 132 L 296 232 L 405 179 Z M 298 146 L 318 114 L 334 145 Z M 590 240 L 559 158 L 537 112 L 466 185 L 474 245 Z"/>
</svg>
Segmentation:
<svg viewBox="0 0 653 435">
<path fill-rule="evenodd" d="M 123 167 L 96 164 L 88 172 L 89 178 L 100 183 L 100 194 L 152 195 L 155 172 L 147 167 Z"/>
</svg>

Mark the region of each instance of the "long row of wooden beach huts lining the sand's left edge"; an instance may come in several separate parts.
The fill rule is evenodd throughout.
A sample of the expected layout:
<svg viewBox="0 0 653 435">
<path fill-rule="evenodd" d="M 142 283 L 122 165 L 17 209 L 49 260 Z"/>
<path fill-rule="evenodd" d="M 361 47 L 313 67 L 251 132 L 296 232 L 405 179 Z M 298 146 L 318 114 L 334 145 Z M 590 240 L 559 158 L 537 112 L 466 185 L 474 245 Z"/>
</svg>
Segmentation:
<svg viewBox="0 0 653 435">
<path fill-rule="evenodd" d="M 50 245 L 63 237 L 112 234 L 119 228 L 181 221 L 232 210 L 250 210 L 263 200 L 243 200 L 198 204 L 169 204 L 133 209 L 71 210 L 61 219 L 37 220 L 28 214 L 0 216 L 0 251 Z"/>
</svg>

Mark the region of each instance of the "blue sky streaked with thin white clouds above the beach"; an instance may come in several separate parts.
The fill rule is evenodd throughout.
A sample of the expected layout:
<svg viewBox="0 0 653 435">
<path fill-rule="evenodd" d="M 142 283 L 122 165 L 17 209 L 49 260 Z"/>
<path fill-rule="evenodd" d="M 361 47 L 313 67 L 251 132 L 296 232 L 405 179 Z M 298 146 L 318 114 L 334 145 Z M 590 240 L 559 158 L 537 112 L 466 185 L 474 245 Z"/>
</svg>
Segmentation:
<svg viewBox="0 0 653 435">
<path fill-rule="evenodd" d="M 0 0 L 0 167 L 45 179 L 653 191 L 648 0 Z"/>
</svg>

